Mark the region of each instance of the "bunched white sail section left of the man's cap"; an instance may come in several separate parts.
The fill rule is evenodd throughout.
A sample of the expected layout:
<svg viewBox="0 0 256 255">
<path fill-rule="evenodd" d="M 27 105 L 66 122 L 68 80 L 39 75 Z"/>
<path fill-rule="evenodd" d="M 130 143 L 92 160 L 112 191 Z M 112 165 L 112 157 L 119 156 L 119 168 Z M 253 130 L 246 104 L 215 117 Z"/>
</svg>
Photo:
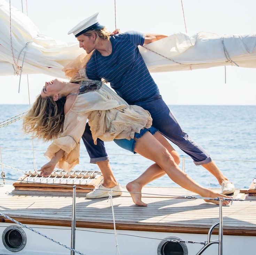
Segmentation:
<svg viewBox="0 0 256 255">
<path fill-rule="evenodd" d="M 65 78 L 61 69 L 83 50 L 76 42 L 64 43 L 40 34 L 21 11 L 0 0 L 0 75 L 13 75 L 24 65 L 22 74 L 43 73 Z M 26 46 L 27 44 L 27 46 Z"/>
</svg>

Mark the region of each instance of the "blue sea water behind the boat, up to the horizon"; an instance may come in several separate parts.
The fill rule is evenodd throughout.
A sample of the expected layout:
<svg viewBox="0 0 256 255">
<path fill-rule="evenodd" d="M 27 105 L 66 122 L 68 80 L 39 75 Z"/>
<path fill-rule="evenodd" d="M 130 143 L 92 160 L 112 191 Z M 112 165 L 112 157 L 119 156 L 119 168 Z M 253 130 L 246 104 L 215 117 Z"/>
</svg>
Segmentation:
<svg viewBox="0 0 256 255">
<path fill-rule="evenodd" d="M 216 160 L 222 172 L 234 182 L 236 188 L 248 188 L 256 177 L 256 106 L 169 106 L 181 127 Z M 0 122 L 28 110 L 28 105 L 0 105 Z M 37 169 L 47 160 L 44 151 L 49 143 L 34 139 L 34 157 Z M 106 148 L 116 179 L 121 185 L 138 177 L 152 161 L 107 142 Z M 22 132 L 22 120 L 0 128 L 0 145 L 3 164 L 21 169 L 33 169 L 32 141 Z M 177 146 L 173 147 L 185 157 L 185 172 L 206 187 L 219 187 L 216 179 L 206 169 L 195 166 Z M 15 149 L 19 148 L 21 150 Z M 254 161 L 254 162 L 245 162 Z M 89 157 L 81 144 L 80 164 L 75 169 L 98 170 L 89 164 Z M 21 172 L 4 167 L 6 178 L 17 179 Z M 8 181 L 8 180 L 7 180 Z M 1 183 L 1 181 L 0 181 Z M 177 186 L 167 176 L 148 184 L 149 186 Z"/>
</svg>

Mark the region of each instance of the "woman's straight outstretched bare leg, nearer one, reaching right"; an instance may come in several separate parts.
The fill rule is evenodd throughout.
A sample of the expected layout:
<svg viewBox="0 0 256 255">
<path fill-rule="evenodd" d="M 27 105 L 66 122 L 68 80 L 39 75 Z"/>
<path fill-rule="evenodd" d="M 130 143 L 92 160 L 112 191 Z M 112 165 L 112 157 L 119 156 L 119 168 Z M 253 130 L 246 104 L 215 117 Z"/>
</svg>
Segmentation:
<svg viewBox="0 0 256 255">
<path fill-rule="evenodd" d="M 156 162 L 174 182 L 187 190 L 203 197 L 228 197 L 197 184 L 178 167 L 168 150 L 149 132 L 136 141 L 134 151 Z M 218 204 L 218 201 L 212 202 Z M 228 203 L 228 201 L 223 201 L 224 205 Z"/>
</svg>

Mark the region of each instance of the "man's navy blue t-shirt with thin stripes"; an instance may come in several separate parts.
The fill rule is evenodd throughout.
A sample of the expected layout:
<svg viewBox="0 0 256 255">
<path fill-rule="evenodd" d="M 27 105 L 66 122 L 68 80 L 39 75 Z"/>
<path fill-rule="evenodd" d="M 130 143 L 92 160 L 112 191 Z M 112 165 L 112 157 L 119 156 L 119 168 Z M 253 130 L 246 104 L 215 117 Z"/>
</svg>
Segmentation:
<svg viewBox="0 0 256 255">
<path fill-rule="evenodd" d="M 87 77 L 110 82 L 111 88 L 129 104 L 159 94 L 138 49 L 144 40 L 144 34 L 135 31 L 110 37 L 112 53 L 102 56 L 95 50 L 86 65 Z"/>
</svg>

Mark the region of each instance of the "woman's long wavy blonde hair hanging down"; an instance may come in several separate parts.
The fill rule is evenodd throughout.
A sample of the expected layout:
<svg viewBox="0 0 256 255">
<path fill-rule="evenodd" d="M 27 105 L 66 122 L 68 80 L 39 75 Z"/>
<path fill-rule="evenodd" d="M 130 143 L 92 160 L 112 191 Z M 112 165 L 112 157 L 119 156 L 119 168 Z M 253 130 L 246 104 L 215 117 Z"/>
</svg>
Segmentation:
<svg viewBox="0 0 256 255">
<path fill-rule="evenodd" d="M 80 83 L 85 78 L 74 78 L 69 82 Z M 42 98 L 37 96 L 36 101 L 23 119 L 25 134 L 32 134 L 33 138 L 40 138 L 45 142 L 56 139 L 63 132 L 65 96 L 54 101 L 52 96 Z"/>
</svg>

